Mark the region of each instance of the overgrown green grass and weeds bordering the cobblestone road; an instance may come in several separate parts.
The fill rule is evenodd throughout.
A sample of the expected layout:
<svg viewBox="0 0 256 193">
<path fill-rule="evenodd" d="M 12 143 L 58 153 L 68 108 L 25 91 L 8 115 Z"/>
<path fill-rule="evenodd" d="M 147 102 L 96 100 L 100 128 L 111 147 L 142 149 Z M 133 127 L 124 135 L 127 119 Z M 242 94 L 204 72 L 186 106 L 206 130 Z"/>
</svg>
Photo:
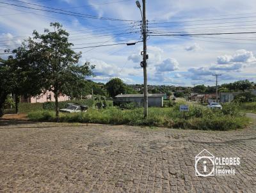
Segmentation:
<svg viewBox="0 0 256 193">
<path fill-rule="evenodd" d="M 232 130 L 244 128 L 250 122 L 234 105 L 224 105 L 223 111 L 213 111 L 198 105 L 191 105 L 189 108 L 189 112 L 179 112 L 179 104 L 175 107 L 149 108 L 147 120 L 143 118 L 142 108 L 89 109 L 87 112 L 60 113 L 60 121 L 197 130 Z M 31 121 L 56 121 L 54 111 L 30 112 L 28 117 Z"/>
</svg>

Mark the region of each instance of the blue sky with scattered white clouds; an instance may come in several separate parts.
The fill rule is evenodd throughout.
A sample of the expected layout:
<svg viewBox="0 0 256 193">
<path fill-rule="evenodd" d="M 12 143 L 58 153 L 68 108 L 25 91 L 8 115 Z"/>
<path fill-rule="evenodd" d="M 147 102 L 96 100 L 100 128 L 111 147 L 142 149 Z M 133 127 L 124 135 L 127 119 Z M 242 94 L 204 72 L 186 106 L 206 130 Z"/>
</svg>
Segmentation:
<svg viewBox="0 0 256 193">
<path fill-rule="evenodd" d="M 253 0 L 146 3 L 148 84 L 213 86 L 216 73 L 221 74 L 219 84 L 256 82 L 256 33 L 248 33 L 256 31 Z M 140 20 L 134 0 L 0 0 L 0 53 L 18 47 L 33 30 L 43 33 L 51 29 L 50 22 L 60 22 L 73 48 L 82 52 L 79 64 L 95 65 L 95 76 L 88 79 L 119 77 L 127 84 L 143 84 Z M 247 34 L 198 35 L 237 32 Z M 138 43 L 91 47 L 131 42 Z"/>
</svg>

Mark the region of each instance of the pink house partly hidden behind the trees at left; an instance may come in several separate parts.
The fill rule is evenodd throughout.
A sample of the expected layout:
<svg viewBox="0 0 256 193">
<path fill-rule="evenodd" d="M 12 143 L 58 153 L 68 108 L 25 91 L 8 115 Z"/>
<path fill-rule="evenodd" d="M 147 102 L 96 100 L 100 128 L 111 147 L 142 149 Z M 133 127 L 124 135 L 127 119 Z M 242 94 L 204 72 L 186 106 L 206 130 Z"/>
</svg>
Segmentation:
<svg viewBox="0 0 256 193">
<path fill-rule="evenodd" d="M 66 101 L 70 100 L 70 96 L 66 95 L 60 95 L 58 97 L 58 101 Z M 55 102 L 54 98 L 54 93 L 52 91 L 47 91 L 46 93 L 42 93 L 41 95 L 38 96 L 21 96 L 20 97 L 20 102 L 29 102 L 29 103 L 36 103 L 36 102 Z"/>
</svg>

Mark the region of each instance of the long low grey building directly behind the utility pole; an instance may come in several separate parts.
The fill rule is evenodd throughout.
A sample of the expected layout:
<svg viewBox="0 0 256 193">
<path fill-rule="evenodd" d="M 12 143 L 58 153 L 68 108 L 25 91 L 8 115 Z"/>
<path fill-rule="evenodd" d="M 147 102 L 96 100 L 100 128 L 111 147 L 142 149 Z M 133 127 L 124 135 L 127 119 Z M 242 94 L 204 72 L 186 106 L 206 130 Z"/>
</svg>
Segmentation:
<svg viewBox="0 0 256 193">
<path fill-rule="evenodd" d="M 148 94 L 148 107 L 163 107 L 164 94 Z M 114 101 L 116 103 L 135 102 L 139 107 L 143 107 L 144 95 L 131 94 L 131 95 L 116 95 Z"/>
</svg>

